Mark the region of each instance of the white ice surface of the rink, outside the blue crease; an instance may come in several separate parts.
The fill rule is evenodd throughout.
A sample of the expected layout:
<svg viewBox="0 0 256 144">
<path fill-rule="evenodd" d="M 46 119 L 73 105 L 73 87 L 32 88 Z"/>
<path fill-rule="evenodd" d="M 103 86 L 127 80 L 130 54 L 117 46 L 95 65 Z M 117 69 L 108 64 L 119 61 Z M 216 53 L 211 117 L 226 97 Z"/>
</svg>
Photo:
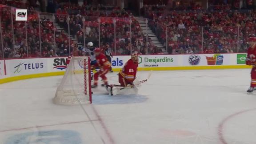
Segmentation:
<svg viewBox="0 0 256 144">
<path fill-rule="evenodd" d="M 97 88 L 83 107 L 52 103 L 61 78 L 0 85 L 0 144 L 256 144 L 249 69 L 153 72 L 137 96 Z"/>
</svg>

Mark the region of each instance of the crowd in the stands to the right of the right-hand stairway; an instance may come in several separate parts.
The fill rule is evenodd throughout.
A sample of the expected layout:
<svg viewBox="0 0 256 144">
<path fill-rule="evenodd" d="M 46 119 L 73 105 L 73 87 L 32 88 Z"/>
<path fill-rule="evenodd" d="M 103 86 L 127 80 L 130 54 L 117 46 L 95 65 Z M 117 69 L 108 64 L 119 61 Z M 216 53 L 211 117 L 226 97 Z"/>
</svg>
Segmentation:
<svg viewBox="0 0 256 144">
<path fill-rule="evenodd" d="M 256 33 L 255 10 L 165 12 L 145 7 L 145 15 L 165 46 L 167 31 L 172 54 L 246 52 L 248 37 Z"/>
</svg>

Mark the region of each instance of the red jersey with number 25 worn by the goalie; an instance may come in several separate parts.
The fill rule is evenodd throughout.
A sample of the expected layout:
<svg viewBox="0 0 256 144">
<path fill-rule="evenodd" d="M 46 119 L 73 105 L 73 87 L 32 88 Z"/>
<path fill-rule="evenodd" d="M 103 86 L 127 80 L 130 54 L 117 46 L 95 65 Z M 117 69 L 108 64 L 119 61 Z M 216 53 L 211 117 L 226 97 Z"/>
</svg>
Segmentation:
<svg viewBox="0 0 256 144">
<path fill-rule="evenodd" d="M 124 64 L 124 67 L 119 74 L 123 76 L 125 80 L 132 83 L 136 78 L 137 70 L 138 64 L 134 63 L 132 59 L 130 59 L 126 62 L 126 64 Z"/>
</svg>

